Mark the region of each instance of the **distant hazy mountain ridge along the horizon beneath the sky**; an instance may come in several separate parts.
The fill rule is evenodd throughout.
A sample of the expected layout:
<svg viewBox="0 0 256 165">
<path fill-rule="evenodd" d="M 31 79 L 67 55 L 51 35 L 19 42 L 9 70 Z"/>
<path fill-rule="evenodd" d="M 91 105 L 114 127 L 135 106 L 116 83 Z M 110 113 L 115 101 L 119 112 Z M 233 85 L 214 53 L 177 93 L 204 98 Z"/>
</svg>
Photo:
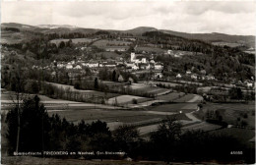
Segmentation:
<svg viewBox="0 0 256 165">
<path fill-rule="evenodd" d="M 126 30 L 117 30 L 117 29 L 99 29 L 99 28 L 85 28 L 85 27 L 75 27 L 70 25 L 39 25 L 39 26 L 29 26 L 22 25 L 17 23 L 4 23 L 1 24 L 1 28 L 3 27 L 16 27 L 21 30 L 32 30 L 36 32 L 42 33 L 65 33 L 65 32 L 82 32 L 82 33 L 95 33 L 99 30 L 108 31 L 110 33 L 131 33 L 133 35 L 142 35 L 147 31 L 161 31 L 164 33 L 181 36 L 189 39 L 199 39 L 208 42 L 231 42 L 231 43 L 241 43 L 250 47 L 255 47 L 255 36 L 254 35 L 230 35 L 219 32 L 212 33 L 187 33 L 187 32 L 179 32 L 168 29 L 158 29 L 156 27 L 135 27 L 132 29 Z"/>
</svg>

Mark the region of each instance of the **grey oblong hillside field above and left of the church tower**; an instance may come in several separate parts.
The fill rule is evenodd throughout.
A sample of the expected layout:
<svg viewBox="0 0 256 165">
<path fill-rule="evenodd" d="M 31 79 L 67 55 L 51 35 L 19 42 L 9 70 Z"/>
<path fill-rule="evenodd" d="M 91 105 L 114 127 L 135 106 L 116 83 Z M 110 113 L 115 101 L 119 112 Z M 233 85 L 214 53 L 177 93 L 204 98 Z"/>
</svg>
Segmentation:
<svg viewBox="0 0 256 165">
<path fill-rule="evenodd" d="M 101 39 L 97 40 L 93 45 L 97 47 L 105 47 L 105 46 L 128 46 L 132 42 L 129 41 L 123 41 L 123 40 L 107 40 L 107 39 Z"/>
</svg>

